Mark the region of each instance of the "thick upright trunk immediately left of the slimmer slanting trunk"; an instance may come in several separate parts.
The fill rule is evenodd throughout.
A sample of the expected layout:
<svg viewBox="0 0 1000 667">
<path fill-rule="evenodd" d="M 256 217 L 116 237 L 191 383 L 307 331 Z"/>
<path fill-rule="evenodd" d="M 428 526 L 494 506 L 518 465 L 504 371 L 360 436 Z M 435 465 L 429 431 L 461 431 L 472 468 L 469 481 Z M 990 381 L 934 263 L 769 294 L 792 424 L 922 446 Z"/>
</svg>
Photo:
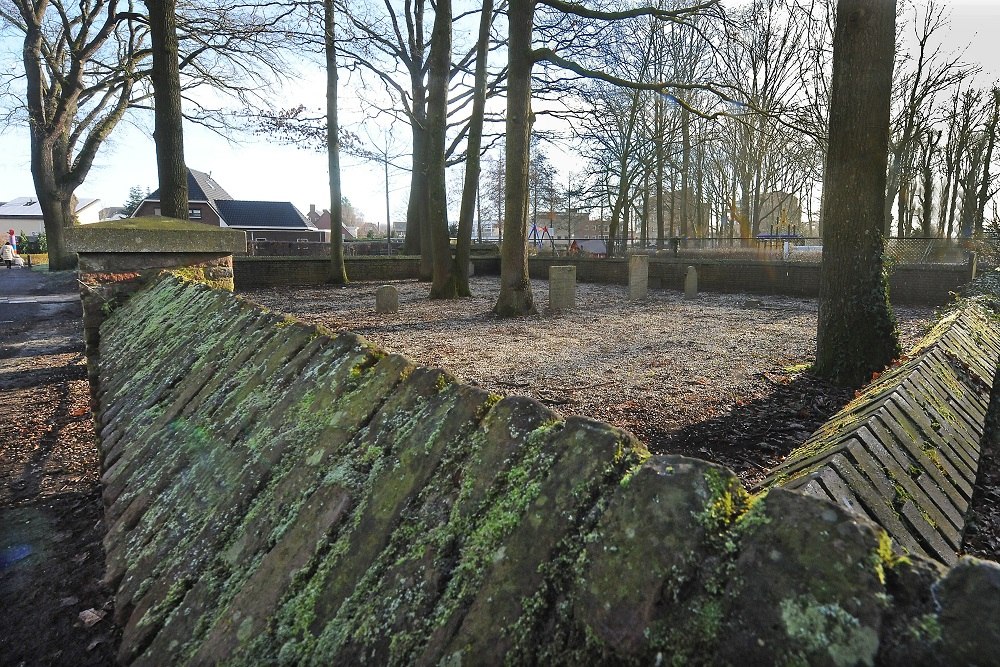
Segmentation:
<svg viewBox="0 0 1000 667">
<path fill-rule="evenodd" d="M 427 85 L 427 204 L 433 260 L 432 299 L 458 296 L 448 234 L 445 183 L 445 132 L 448 124 L 448 79 L 451 70 L 451 0 L 438 0 L 431 34 Z"/>
</svg>

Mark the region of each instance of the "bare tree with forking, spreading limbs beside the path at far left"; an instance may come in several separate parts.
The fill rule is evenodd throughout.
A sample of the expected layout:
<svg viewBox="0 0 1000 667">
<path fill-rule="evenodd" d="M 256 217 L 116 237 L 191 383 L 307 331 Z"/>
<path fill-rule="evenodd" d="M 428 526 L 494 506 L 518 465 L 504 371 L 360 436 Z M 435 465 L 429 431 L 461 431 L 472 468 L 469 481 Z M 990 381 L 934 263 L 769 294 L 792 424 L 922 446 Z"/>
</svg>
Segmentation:
<svg viewBox="0 0 1000 667">
<path fill-rule="evenodd" d="M 130 9 L 116 0 L 0 5 L 0 19 L 23 35 L 31 175 L 51 270 L 74 265 L 63 240 L 63 230 L 74 223 L 74 193 L 134 101 L 133 73 L 143 57 L 146 29 Z"/>
</svg>

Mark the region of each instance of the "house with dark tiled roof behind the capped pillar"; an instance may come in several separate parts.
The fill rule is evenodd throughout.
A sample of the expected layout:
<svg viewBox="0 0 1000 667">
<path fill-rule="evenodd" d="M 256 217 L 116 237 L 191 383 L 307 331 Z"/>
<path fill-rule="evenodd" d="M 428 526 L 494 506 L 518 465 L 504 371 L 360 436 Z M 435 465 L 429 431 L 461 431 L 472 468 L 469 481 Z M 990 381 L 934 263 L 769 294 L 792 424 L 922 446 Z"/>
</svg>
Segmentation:
<svg viewBox="0 0 1000 667">
<path fill-rule="evenodd" d="M 160 191 L 139 204 L 134 218 L 160 215 Z M 241 229 L 247 242 L 322 242 L 326 232 L 317 229 L 291 202 L 233 199 L 211 174 L 188 169 L 188 219 L 206 225 Z"/>
</svg>

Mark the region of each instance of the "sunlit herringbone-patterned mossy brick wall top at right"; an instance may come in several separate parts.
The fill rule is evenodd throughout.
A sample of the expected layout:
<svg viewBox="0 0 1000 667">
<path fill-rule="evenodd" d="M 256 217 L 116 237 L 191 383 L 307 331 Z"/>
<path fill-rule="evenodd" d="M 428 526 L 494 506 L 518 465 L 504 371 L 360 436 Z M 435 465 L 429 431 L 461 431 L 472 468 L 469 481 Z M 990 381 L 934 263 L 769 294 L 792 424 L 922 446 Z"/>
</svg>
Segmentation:
<svg viewBox="0 0 1000 667">
<path fill-rule="evenodd" d="M 954 563 L 1000 357 L 996 299 L 960 303 L 766 483 L 828 498 L 906 552 Z"/>
</svg>

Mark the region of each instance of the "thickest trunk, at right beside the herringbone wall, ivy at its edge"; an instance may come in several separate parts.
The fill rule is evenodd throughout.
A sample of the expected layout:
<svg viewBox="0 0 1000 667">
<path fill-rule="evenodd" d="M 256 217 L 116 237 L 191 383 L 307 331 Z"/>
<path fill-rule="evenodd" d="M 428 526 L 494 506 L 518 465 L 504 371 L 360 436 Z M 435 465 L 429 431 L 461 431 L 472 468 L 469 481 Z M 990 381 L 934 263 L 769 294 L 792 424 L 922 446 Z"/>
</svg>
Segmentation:
<svg viewBox="0 0 1000 667">
<path fill-rule="evenodd" d="M 882 270 L 895 0 L 839 0 L 816 372 L 860 386 L 899 355 Z"/>
</svg>

